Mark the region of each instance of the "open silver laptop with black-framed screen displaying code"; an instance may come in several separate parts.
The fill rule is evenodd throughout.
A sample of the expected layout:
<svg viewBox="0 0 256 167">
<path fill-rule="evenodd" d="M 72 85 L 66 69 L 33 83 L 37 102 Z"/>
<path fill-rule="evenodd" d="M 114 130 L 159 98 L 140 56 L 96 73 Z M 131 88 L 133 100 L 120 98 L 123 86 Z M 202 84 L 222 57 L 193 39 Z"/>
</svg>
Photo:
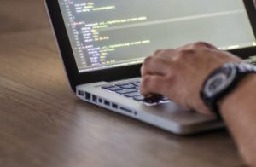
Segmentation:
<svg viewBox="0 0 256 167">
<path fill-rule="evenodd" d="M 140 95 L 140 67 L 156 49 L 204 41 L 256 55 L 252 0 L 45 0 L 70 88 L 82 101 L 177 135 L 223 127 L 159 96 Z M 193 75 L 193 74 L 192 74 Z"/>
</svg>

